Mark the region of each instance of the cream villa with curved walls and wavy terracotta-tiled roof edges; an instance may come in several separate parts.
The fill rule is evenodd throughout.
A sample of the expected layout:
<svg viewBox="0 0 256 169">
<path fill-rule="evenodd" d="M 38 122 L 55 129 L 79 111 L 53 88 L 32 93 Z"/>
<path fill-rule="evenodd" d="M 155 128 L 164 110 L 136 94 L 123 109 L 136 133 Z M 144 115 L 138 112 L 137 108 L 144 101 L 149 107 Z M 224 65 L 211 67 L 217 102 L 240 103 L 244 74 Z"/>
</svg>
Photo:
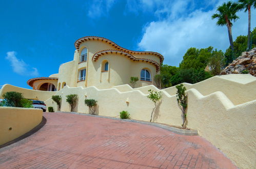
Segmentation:
<svg viewBox="0 0 256 169">
<path fill-rule="evenodd" d="M 33 90 L 57 91 L 69 87 L 107 89 L 128 84 L 130 77 L 140 77 L 135 87 L 155 85 L 164 57 L 156 52 L 131 51 L 113 41 L 86 36 L 74 43 L 72 61 L 62 64 L 57 74 L 27 81 Z"/>
</svg>

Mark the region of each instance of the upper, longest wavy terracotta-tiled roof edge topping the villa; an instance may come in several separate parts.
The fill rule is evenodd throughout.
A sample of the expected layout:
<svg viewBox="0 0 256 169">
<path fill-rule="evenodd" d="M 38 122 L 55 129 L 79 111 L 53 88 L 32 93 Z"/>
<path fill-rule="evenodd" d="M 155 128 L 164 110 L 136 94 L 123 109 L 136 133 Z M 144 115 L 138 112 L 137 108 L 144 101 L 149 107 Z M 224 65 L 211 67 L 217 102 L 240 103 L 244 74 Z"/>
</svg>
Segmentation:
<svg viewBox="0 0 256 169">
<path fill-rule="evenodd" d="M 137 53 L 137 54 L 152 54 L 152 55 L 155 55 L 157 57 L 160 58 L 160 63 L 162 64 L 163 61 L 164 61 L 164 56 L 161 55 L 160 53 L 157 53 L 157 52 L 151 52 L 151 51 L 132 51 L 132 50 L 128 50 L 128 49 L 125 49 L 117 44 L 115 44 L 113 41 L 107 39 L 107 38 L 104 38 L 104 37 L 97 37 L 97 36 L 85 36 L 85 37 L 81 37 L 79 39 L 77 39 L 74 43 L 74 46 L 75 46 L 75 49 L 77 51 L 79 51 L 79 48 L 80 48 L 80 44 L 82 44 L 84 41 L 87 41 L 87 40 L 101 40 L 101 41 L 104 41 L 105 43 L 108 43 L 109 45 L 112 45 L 114 48 L 116 48 L 117 50 L 119 51 L 123 51 L 123 52 L 126 52 L 126 53 L 129 53 L 129 54 L 132 54 L 132 53 Z"/>
</svg>

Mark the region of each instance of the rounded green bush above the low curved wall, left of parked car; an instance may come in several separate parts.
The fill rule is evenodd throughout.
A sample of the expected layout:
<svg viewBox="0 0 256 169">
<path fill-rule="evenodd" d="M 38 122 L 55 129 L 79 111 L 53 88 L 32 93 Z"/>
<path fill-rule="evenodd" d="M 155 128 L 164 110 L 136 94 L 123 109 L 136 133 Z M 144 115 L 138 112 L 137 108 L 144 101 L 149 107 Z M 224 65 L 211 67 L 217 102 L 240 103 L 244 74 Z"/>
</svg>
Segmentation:
<svg viewBox="0 0 256 169">
<path fill-rule="evenodd" d="M 6 92 L 5 94 L 3 94 L 3 97 L 6 100 L 7 106 L 22 107 L 21 105 L 21 100 L 23 99 L 22 93 Z"/>
</svg>

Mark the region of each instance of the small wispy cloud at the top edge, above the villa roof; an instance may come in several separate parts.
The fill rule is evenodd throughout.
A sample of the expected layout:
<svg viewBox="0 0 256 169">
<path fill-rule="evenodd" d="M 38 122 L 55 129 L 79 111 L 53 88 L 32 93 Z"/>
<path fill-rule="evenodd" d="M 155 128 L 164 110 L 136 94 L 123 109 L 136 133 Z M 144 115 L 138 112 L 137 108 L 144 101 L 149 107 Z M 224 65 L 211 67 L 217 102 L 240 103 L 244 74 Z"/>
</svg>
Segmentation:
<svg viewBox="0 0 256 169">
<path fill-rule="evenodd" d="M 93 0 L 87 5 L 88 16 L 97 18 L 107 15 L 116 0 Z"/>
</svg>

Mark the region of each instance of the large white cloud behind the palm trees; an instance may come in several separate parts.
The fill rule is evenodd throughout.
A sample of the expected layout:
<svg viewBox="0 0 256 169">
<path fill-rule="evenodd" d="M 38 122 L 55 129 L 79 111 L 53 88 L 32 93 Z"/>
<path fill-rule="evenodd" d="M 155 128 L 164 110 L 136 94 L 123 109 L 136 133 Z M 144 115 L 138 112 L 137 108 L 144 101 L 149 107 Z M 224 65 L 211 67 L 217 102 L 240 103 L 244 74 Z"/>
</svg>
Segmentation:
<svg viewBox="0 0 256 169">
<path fill-rule="evenodd" d="M 193 2 L 193 1 L 191 1 Z M 145 25 L 143 36 L 138 44 L 140 50 L 156 51 L 164 55 L 165 64 L 179 66 L 182 56 L 190 47 L 214 48 L 224 50 L 229 47 L 227 28 L 216 26 L 216 20 L 211 15 L 216 12 L 216 7 L 223 1 L 209 1 L 206 6 L 215 3 L 212 10 L 196 9 L 187 13 L 179 9 L 192 8 L 191 3 L 176 1 L 172 6 L 162 6 L 155 12 L 165 12 L 167 17 Z M 169 8 L 169 11 L 166 9 Z M 170 10 L 171 9 L 171 10 Z M 251 12 L 251 28 L 254 28 L 255 10 Z M 247 34 L 248 14 L 239 12 L 240 19 L 233 24 L 233 40 L 239 35 Z"/>
</svg>

